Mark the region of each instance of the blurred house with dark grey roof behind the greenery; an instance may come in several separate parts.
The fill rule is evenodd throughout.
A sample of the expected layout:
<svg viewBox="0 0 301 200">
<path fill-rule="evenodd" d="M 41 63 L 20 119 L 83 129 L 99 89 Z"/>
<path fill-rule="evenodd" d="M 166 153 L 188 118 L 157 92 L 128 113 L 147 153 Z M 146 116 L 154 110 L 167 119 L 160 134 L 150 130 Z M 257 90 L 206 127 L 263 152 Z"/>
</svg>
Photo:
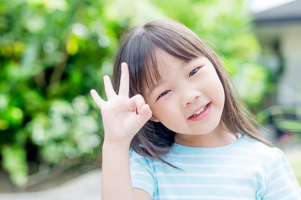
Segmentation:
<svg viewBox="0 0 301 200">
<path fill-rule="evenodd" d="M 261 44 L 259 62 L 275 76 L 278 105 L 301 105 L 301 0 L 253 14 Z"/>
</svg>

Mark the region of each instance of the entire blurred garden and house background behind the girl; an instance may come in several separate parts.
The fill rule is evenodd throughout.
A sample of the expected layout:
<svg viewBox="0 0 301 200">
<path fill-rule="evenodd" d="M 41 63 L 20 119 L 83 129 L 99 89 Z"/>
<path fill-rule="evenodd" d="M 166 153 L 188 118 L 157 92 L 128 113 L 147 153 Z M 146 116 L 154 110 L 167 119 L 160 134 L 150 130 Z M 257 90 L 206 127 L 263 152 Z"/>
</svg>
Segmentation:
<svg viewBox="0 0 301 200">
<path fill-rule="evenodd" d="M 301 183 L 300 7 L 301 0 L 0 0 L 0 198 L 99 198 L 102 123 L 89 90 L 105 96 L 102 77 L 112 73 L 123 31 L 163 17 L 223 57 L 260 131 Z"/>
</svg>

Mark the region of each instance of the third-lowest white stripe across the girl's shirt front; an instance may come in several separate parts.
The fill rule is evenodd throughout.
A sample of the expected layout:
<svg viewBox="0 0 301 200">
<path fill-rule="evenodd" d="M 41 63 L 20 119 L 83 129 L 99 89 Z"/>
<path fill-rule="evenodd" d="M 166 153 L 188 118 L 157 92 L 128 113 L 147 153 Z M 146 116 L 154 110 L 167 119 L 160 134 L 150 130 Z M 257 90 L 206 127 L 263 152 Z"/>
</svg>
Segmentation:
<svg viewBox="0 0 301 200">
<path fill-rule="evenodd" d="M 194 176 L 194 177 L 228 177 L 255 180 L 263 184 L 263 181 L 249 176 L 228 175 L 228 174 L 210 174 L 210 173 L 156 173 L 156 176 Z"/>
</svg>

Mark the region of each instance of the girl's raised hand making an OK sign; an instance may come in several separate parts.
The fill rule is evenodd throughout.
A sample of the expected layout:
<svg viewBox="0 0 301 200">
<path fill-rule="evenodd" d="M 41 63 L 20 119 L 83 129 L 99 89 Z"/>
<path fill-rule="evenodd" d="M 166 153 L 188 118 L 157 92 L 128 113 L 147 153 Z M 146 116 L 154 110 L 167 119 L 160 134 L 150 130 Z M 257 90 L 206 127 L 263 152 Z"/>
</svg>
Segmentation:
<svg viewBox="0 0 301 200">
<path fill-rule="evenodd" d="M 128 97 L 129 75 L 125 62 L 121 64 L 118 95 L 113 89 L 109 76 L 105 75 L 103 80 L 108 100 L 104 101 L 94 89 L 91 90 L 91 95 L 101 110 L 104 140 L 129 144 L 134 135 L 152 116 L 152 111 L 140 94 Z"/>
</svg>

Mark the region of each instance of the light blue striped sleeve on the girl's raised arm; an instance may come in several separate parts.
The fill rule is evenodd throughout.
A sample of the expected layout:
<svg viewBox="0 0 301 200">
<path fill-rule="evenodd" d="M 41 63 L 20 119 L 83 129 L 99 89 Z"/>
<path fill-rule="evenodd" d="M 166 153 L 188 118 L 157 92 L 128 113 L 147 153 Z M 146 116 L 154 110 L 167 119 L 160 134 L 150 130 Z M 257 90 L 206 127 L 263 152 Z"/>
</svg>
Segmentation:
<svg viewBox="0 0 301 200">
<path fill-rule="evenodd" d="M 139 188 L 146 191 L 153 199 L 155 192 L 155 178 L 147 158 L 130 149 L 129 164 L 133 188 Z"/>
</svg>

